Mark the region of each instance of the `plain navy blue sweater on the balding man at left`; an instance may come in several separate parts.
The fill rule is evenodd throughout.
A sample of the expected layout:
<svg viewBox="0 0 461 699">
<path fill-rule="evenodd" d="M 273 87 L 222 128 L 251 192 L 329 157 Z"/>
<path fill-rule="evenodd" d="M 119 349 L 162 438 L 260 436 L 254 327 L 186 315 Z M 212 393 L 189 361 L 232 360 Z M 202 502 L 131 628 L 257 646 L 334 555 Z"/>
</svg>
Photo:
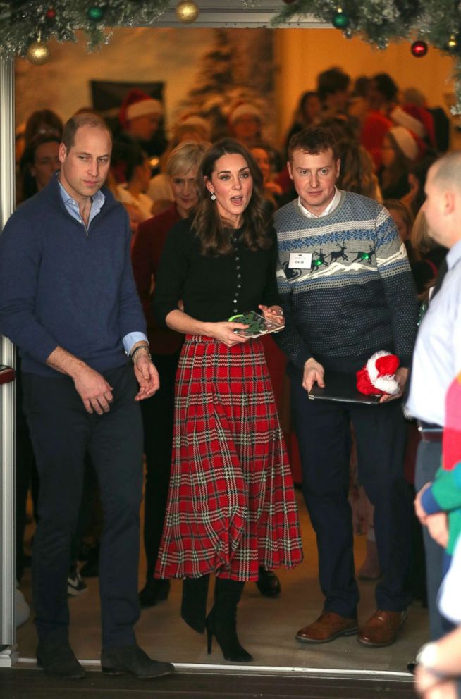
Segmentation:
<svg viewBox="0 0 461 699">
<path fill-rule="evenodd" d="M 97 371 L 126 361 L 122 339 L 145 333 L 123 206 L 106 201 L 89 227 L 75 221 L 52 178 L 9 218 L 0 236 L 0 332 L 23 371 L 61 376 L 46 361 L 63 347 Z"/>
</svg>

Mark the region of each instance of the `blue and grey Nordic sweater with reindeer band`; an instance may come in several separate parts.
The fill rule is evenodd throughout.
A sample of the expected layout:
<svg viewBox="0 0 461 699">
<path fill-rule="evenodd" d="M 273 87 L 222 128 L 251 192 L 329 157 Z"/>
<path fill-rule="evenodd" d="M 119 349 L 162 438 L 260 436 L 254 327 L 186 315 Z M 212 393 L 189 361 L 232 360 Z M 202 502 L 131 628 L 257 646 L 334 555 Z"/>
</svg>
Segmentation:
<svg viewBox="0 0 461 699">
<path fill-rule="evenodd" d="M 309 357 L 359 359 L 386 349 L 408 366 L 418 303 L 405 246 L 386 209 L 341 192 L 324 217 L 307 218 L 295 199 L 275 222 L 286 322 L 276 339 L 290 361 L 302 369 Z M 293 268 L 290 253 L 312 253 L 310 268 Z"/>
</svg>

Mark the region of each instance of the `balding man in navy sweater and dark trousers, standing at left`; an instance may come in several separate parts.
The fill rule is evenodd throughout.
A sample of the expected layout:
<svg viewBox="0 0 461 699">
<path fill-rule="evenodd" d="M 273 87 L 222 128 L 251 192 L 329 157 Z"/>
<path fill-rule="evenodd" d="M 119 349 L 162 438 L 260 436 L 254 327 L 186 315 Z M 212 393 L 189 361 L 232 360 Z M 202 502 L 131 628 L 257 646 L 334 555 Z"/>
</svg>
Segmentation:
<svg viewBox="0 0 461 699">
<path fill-rule="evenodd" d="M 139 401 L 156 392 L 159 376 L 133 281 L 128 216 L 102 187 L 111 146 L 99 117 L 71 118 L 59 147 L 60 173 L 20 206 L 0 237 L 0 332 L 18 345 L 23 360 L 24 409 L 40 476 L 32 554 L 37 662 L 66 677 L 85 675 L 68 643 L 67 603 L 85 452 L 104 509 L 102 669 L 140 677 L 173 671 L 147 657 L 133 631 L 139 617 Z"/>
</svg>

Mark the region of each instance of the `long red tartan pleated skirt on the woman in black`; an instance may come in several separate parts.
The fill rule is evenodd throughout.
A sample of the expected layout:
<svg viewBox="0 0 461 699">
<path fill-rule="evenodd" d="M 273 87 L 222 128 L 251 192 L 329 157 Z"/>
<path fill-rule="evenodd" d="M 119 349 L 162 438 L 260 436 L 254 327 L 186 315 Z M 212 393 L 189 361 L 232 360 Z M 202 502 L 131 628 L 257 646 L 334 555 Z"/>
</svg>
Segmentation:
<svg viewBox="0 0 461 699">
<path fill-rule="evenodd" d="M 290 466 L 259 340 L 187 335 L 156 576 L 248 581 L 302 561 Z"/>
</svg>

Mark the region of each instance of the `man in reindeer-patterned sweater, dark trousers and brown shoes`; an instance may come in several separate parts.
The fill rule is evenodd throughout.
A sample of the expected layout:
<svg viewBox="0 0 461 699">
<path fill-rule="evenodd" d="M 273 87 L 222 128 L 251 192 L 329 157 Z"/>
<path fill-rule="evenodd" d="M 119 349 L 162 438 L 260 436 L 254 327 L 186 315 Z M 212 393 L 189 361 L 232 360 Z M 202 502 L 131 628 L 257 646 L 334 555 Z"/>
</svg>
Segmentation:
<svg viewBox="0 0 461 699">
<path fill-rule="evenodd" d="M 417 330 L 417 299 L 405 247 L 386 209 L 337 190 L 340 161 L 330 131 L 293 136 L 288 170 L 299 198 L 276 213 L 278 287 L 285 330 L 278 341 L 290 359 L 303 494 L 319 551 L 324 610 L 297 633 L 326 643 L 358 631 L 364 645 L 395 641 L 410 596 L 410 502 L 403 476 L 405 422 L 400 400 Z M 355 373 L 377 350 L 398 355 L 398 395 L 379 405 L 309 400 L 328 371 Z M 348 503 L 350 423 L 359 479 L 374 504 L 383 578 L 377 611 L 357 624 L 352 519 Z"/>
</svg>

